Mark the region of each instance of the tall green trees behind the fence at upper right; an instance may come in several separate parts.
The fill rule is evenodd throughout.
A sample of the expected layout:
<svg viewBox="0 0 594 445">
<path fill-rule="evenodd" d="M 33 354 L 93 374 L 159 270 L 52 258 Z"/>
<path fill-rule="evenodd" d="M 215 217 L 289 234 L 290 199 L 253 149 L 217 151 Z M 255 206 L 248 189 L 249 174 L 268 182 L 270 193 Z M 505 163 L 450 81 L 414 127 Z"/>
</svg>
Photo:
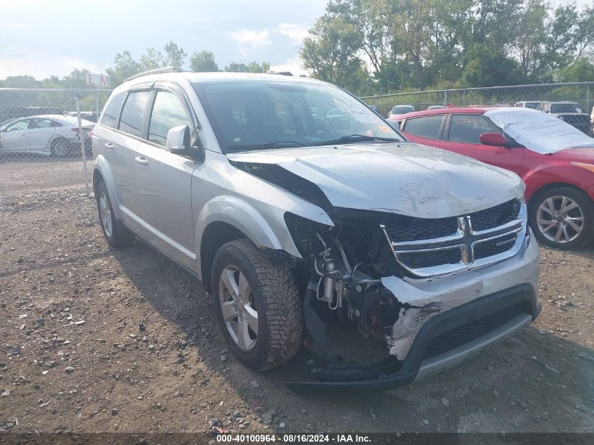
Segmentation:
<svg viewBox="0 0 594 445">
<path fill-rule="evenodd" d="M 578 58 L 594 58 L 594 6 L 329 0 L 300 56 L 314 77 L 355 92 L 551 82 Z"/>
</svg>

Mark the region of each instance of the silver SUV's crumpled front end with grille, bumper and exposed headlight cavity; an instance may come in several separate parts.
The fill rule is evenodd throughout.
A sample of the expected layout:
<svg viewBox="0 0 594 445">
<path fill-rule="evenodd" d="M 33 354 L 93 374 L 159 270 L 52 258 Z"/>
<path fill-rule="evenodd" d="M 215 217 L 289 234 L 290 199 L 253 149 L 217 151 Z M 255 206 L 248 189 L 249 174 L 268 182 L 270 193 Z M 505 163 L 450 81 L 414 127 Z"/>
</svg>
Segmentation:
<svg viewBox="0 0 594 445">
<path fill-rule="evenodd" d="M 308 343 L 314 354 L 344 356 L 328 332 L 345 324 L 383 344 L 387 354 L 366 365 L 326 361 L 314 379 L 290 382 L 293 389 L 406 385 L 512 335 L 540 311 L 538 245 L 521 198 L 442 219 L 329 214 L 336 225 L 329 231 L 288 217 L 301 241 L 296 245 L 311 261 Z"/>
</svg>

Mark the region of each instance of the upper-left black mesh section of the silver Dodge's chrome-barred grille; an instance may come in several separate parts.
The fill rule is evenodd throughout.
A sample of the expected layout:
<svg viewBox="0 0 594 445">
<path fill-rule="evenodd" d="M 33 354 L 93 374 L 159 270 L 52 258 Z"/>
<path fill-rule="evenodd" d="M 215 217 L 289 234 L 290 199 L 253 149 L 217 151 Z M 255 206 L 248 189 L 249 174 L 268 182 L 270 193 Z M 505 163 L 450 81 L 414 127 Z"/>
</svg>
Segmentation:
<svg viewBox="0 0 594 445">
<path fill-rule="evenodd" d="M 426 240 L 451 236 L 458 230 L 458 218 L 411 218 L 394 215 L 386 218 L 384 226 L 392 242 Z"/>
</svg>

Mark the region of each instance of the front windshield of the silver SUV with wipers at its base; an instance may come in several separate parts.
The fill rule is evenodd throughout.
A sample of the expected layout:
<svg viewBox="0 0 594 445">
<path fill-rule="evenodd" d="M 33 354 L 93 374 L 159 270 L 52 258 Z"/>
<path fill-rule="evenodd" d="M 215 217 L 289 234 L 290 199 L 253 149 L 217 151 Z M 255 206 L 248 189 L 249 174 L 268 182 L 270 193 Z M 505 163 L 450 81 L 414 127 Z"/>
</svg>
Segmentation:
<svg viewBox="0 0 594 445">
<path fill-rule="evenodd" d="M 223 153 L 326 143 L 406 141 L 367 105 L 330 84 L 193 84 Z"/>
</svg>

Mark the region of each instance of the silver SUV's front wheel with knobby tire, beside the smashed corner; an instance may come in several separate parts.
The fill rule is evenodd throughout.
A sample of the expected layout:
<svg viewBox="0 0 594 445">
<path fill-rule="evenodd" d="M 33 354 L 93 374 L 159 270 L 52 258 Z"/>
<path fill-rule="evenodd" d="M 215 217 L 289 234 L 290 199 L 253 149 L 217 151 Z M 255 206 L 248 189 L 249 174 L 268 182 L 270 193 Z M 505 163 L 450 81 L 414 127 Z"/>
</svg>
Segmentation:
<svg viewBox="0 0 594 445">
<path fill-rule="evenodd" d="M 239 290 L 235 297 L 228 291 L 230 283 Z M 274 368 L 297 354 L 303 309 L 295 278 L 288 266 L 272 264 L 250 241 L 230 241 L 218 250 L 212 266 L 212 300 L 228 346 L 248 368 Z"/>
</svg>

